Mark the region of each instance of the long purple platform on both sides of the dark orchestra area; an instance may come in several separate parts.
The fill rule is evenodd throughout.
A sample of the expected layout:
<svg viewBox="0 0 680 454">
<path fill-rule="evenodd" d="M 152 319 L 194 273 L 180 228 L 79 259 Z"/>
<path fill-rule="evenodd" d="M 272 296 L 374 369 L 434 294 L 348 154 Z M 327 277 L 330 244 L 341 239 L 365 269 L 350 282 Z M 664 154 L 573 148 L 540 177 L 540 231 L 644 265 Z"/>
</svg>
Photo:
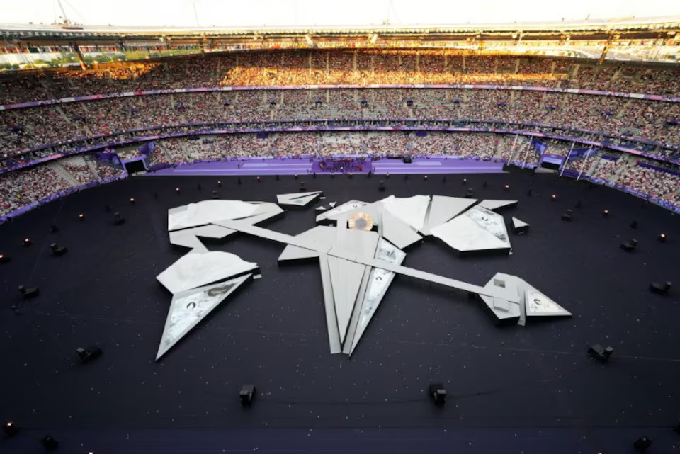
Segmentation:
<svg viewBox="0 0 680 454">
<path fill-rule="evenodd" d="M 309 158 L 199 162 L 149 175 L 304 175 L 312 173 L 313 164 Z M 412 164 L 404 164 L 401 159 L 378 159 L 372 164 L 375 174 L 497 174 L 503 171 L 502 162 L 473 159 L 414 158 Z"/>
</svg>

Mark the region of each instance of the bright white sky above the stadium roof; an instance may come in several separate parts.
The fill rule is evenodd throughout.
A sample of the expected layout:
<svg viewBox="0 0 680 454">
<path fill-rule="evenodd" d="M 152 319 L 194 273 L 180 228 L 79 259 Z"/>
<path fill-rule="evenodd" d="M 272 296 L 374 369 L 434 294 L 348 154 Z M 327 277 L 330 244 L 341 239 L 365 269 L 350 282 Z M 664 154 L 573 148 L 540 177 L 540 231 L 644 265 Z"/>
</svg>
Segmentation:
<svg viewBox="0 0 680 454">
<path fill-rule="evenodd" d="M 508 23 L 680 16 L 677 0 L 62 0 L 84 25 L 281 26 Z M 57 0 L 0 0 L 0 23 L 53 23 Z"/>
</svg>

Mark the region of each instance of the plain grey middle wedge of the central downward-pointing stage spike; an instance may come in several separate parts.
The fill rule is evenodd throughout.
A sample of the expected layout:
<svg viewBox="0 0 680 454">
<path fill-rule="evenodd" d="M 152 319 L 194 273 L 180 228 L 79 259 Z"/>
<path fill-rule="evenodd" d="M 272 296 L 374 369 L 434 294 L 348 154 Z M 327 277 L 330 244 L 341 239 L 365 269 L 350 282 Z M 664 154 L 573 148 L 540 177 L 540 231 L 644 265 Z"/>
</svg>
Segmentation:
<svg viewBox="0 0 680 454">
<path fill-rule="evenodd" d="M 361 263 L 338 259 L 333 256 L 329 256 L 328 264 L 331 272 L 340 341 L 344 342 L 365 266 Z"/>
</svg>

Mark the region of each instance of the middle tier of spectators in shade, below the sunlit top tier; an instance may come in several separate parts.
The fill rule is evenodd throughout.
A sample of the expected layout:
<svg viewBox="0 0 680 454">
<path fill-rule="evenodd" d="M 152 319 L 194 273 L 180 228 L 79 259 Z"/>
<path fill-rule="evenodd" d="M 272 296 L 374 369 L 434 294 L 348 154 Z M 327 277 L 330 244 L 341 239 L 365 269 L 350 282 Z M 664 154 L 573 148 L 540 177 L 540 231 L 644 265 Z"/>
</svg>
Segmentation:
<svg viewBox="0 0 680 454">
<path fill-rule="evenodd" d="M 0 110 L 0 156 L 152 127 L 310 118 L 538 123 L 680 146 L 680 125 L 674 124 L 680 120 L 680 105 L 662 101 L 504 90 L 312 89 L 175 93 Z M 677 152 L 659 146 L 659 153 Z"/>
</svg>

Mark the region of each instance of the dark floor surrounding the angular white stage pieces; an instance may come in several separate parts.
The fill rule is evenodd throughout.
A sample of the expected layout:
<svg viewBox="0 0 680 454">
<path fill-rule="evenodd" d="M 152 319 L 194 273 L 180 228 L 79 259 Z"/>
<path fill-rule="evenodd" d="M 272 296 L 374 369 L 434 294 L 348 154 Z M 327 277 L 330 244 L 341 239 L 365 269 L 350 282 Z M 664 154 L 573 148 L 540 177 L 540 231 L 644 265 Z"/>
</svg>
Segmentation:
<svg viewBox="0 0 680 454">
<path fill-rule="evenodd" d="M 608 188 L 521 171 L 446 183 L 392 176 L 385 194 L 377 176 L 305 182 L 326 193 L 324 203 L 342 203 L 462 196 L 463 177 L 480 198 L 519 199 L 504 215 L 531 232 L 511 237 L 511 256 L 460 259 L 425 242 L 404 264 L 477 284 L 516 274 L 572 319 L 495 327 L 467 295 L 397 277 L 351 360 L 331 356 L 317 265 L 278 268 L 283 246 L 241 236 L 210 248 L 256 261 L 263 278 L 156 363 L 170 295 L 155 276 L 182 254 L 169 246 L 166 209 L 210 198 L 218 177 L 130 178 L 1 225 L 0 251 L 13 261 L 0 265 L 0 418 L 26 429 L 0 440 L 0 451 L 38 453 L 36 440 L 51 433 L 68 453 L 628 453 L 643 435 L 658 437 L 650 453 L 677 452 L 680 436 L 668 428 L 680 421 L 678 217 Z M 299 187 L 291 176 L 221 180 L 222 198 L 240 200 L 275 201 Z M 574 222 L 562 222 L 577 200 Z M 113 227 L 106 203 L 125 225 Z M 286 212 L 267 227 L 295 234 L 314 215 Z M 59 233 L 49 233 L 52 223 Z M 669 242 L 657 242 L 659 232 Z M 27 236 L 30 248 L 21 246 Z M 638 251 L 626 254 L 618 246 L 632 237 Z M 51 242 L 69 254 L 51 256 Z M 676 288 L 651 295 L 652 280 Z M 20 284 L 42 294 L 22 303 Z M 608 365 L 585 353 L 598 342 L 615 348 Z M 79 365 L 74 350 L 88 344 L 104 354 Z M 424 394 L 432 381 L 448 389 L 443 409 Z M 259 388 L 247 411 L 237 399 L 244 382 Z"/>
</svg>

